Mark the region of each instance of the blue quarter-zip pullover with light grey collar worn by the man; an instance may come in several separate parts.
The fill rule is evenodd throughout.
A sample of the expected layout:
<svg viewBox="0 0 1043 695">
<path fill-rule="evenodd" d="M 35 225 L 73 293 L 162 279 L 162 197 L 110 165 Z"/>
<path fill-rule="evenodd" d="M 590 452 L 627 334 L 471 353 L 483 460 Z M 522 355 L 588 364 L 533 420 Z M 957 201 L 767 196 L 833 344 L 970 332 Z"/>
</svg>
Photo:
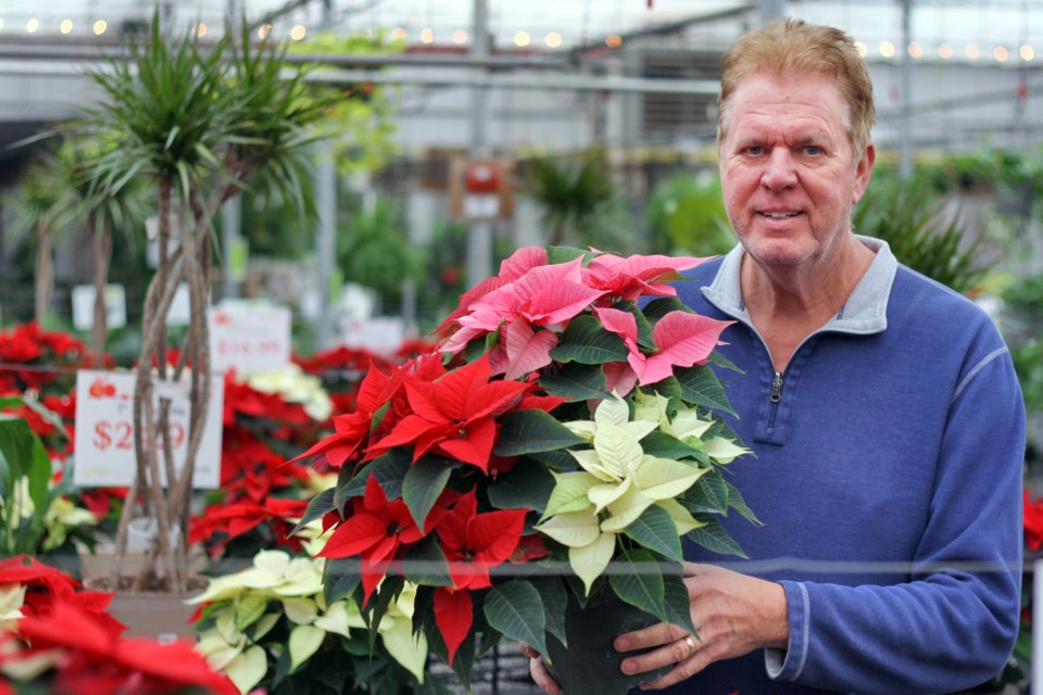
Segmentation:
<svg viewBox="0 0 1043 695">
<path fill-rule="evenodd" d="M 736 319 L 720 370 L 754 452 L 730 478 L 764 521 L 726 526 L 786 589 L 790 643 L 712 666 L 673 693 L 948 693 L 1010 654 L 1020 609 L 1025 410 L 1009 353 L 973 303 L 887 244 L 781 375 L 739 290 L 742 251 L 689 271 L 680 299 Z M 698 628 L 698 626 L 696 626 Z"/>
</svg>

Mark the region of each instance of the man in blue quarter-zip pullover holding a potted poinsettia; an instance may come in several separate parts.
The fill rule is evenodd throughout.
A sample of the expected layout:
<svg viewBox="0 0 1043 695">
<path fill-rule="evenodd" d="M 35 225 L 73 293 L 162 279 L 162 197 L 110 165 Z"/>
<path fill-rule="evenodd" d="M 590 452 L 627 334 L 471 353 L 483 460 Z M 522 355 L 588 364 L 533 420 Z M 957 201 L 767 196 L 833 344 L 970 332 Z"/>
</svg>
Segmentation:
<svg viewBox="0 0 1043 695">
<path fill-rule="evenodd" d="M 678 283 L 733 319 L 721 374 L 756 458 L 730 479 L 764 521 L 696 547 L 699 635 L 620 635 L 674 693 L 948 693 L 997 673 L 1018 628 L 1025 413 L 1007 350 L 965 298 L 857 237 L 872 91 L 843 33 L 779 21 L 724 58 L 718 154 L 739 245 Z M 695 564 L 695 563 L 716 563 Z M 532 656 L 531 652 L 528 652 Z M 552 693 L 542 662 L 533 679 Z"/>
</svg>

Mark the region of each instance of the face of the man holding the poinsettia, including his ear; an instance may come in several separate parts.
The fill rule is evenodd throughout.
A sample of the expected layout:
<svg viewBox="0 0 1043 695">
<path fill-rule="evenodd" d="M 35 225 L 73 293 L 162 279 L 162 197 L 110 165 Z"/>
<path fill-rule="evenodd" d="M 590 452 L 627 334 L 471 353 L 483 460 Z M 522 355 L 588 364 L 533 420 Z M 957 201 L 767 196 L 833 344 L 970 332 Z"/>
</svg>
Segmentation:
<svg viewBox="0 0 1043 695">
<path fill-rule="evenodd" d="M 828 262 L 850 231 L 874 151 L 855 164 L 844 109 L 825 75 L 754 73 L 732 92 L 721 188 L 739 241 L 761 264 Z"/>
</svg>

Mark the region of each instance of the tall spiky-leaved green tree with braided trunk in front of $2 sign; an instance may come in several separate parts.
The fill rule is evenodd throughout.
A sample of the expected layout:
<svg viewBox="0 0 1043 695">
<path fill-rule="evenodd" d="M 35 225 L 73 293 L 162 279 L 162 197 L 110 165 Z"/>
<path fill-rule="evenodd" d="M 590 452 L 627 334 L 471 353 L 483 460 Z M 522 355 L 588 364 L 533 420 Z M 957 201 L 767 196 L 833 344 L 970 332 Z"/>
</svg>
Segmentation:
<svg viewBox="0 0 1043 695">
<path fill-rule="evenodd" d="M 194 459 L 211 390 L 206 307 L 214 219 L 225 202 L 254 180 L 300 210 L 313 208 L 309 154 L 316 136 L 310 126 L 323 117 L 328 102 L 309 91 L 303 71 L 287 74 L 285 53 L 285 47 L 275 43 L 254 45 L 244 22 L 238 39 L 229 28 L 206 48 L 192 36 L 172 39 L 161 30 L 156 13 L 151 30 L 128 42 L 125 58 L 89 73 L 104 98 L 85 118 L 84 129 L 121 143 L 98 156 L 92 178 L 110 193 L 146 179 L 159 207 L 159 267 L 144 301 L 134 394 L 137 473 L 129 498 L 142 498 L 142 510 L 156 519 L 152 557 L 163 563 L 147 567 L 137 578 L 138 587 L 149 577 L 158 587 L 186 586 L 185 534 L 173 544 L 168 539 L 174 523 L 188 528 Z M 262 172 L 267 176 L 259 177 Z M 168 344 L 166 316 L 183 282 L 189 289 L 190 324 L 184 342 L 176 345 L 178 359 L 169 366 L 167 350 L 175 345 Z M 189 437 L 176 470 L 171 447 L 152 444 L 168 441 L 171 402 L 160 397 L 155 407 L 153 399 L 164 384 L 177 388 L 185 378 Z M 161 465 L 166 486 L 161 484 Z M 114 574 L 134 513 L 135 505 L 126 505 L 120 520 Z"/>
</svg>

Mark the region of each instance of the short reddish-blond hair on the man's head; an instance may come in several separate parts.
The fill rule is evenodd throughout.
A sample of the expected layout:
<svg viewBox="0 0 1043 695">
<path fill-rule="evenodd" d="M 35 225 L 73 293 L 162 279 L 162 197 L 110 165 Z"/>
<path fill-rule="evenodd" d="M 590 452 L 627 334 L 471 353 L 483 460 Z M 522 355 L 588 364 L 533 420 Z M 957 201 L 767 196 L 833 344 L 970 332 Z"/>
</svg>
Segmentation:
<svg viewBox="0 0 1043 695">
<path fill-rule="evenodd" d="M 854 41 L 840 29 L 807 24 L 803 20 L 774 20 L 740 37 L 725 53 L 721 67 L 717 147 L 728 129 L 729 99 L 743 78 L 753 73 L 831 75 L 846 105 L 843 125 L 855 161 L 869 143 L 877 115 L 872 83 Z"/>
</svg>

